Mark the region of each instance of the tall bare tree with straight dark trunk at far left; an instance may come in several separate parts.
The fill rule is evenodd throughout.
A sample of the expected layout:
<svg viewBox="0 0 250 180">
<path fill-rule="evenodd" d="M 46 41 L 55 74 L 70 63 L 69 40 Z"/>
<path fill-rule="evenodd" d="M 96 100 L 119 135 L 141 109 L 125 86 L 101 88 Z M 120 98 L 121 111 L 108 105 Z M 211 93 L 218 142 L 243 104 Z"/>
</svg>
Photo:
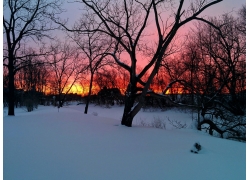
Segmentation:
<svg viewBox="0 0 250 180">
<path fill-rule="evenodd" d="M 62 12 L 61 2 L 57 0 L 4 0 L 3 34 L 4 66 L 8 68 L 9 109 L 8 115 L 14 115 L 14 76 L 20 70 L 27 56 L 25 44 L 40 42 L 49 37 L 56 27 L 50 18 Z M 37 52 L 36 52 L 37 53 Z M 40 52 L 39 52 L 40 54 Z"/>
</svg>

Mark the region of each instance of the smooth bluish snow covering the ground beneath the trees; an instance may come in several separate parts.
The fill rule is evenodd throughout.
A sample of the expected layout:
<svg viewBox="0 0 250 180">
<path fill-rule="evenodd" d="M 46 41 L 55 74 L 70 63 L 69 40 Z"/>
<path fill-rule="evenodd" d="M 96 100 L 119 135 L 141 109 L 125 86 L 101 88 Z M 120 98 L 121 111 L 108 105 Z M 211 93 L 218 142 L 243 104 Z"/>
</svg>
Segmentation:
<svg viewBox="0 0 250 180">
<path fill-rule="evenodd" d="M 193 128 L 190 113 L 141 111 L 132 128 L 120 125 L 122 107 L 39 106 L 16 116 L 3 111 L 4 180 L 243 180 L 246 143 Z M 165 119 L 166 129 L 141 121 Z M 170 120 L 187 125 L 175 129 Z M 199 154 L 190 152 L 199 142 Z"/>
</svg>

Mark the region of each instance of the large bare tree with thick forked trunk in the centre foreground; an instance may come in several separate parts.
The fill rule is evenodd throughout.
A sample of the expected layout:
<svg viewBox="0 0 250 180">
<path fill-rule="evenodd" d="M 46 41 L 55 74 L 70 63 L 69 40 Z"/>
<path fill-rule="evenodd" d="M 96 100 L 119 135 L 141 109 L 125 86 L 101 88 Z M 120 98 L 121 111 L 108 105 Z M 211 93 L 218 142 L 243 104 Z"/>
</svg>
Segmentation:
<svg viewBox="0 0 250 180">
<path fill-rule="evenodd" d="M 196 0 L 187 5 L 186 8 L 184 7 L 184 0 L 180 0 L 178 3 L 171 0 L 81 1 L 87 10 L 92 11 L 93 15 L 98 17 L 98 26 L 91 32 L 98 31 L 112 38 L 114 49 L 109 55 L 130 74 L 129 84 L 126 88 L 122 125 L 132 126 L 133 118 L 140 111 L 150 84 L 157 74 L 161 61 L 169 50 L 177 31 L 183 25 L 198 19 L 197 17 L 205 9 L 221 1 Z M 167 14 L 167 12 L 172 14 Z M 65 25 L 64 27 L 71 30 Z M 157 32 L 155 34 L 157 41 L 154 43 L 156 47 L 150 47 L 150 41 L 146 41 L 148 33 L 152 32 L 150 30 Z M 77 31 L 88 32 L 83 28 Z M 148 63 L 140 72 L 137 72 L 139 54 L 143 55 L 143 52 L 150 49 L 151 53 L 146 53 L 144 57 L 140 57 L 147 59 Z M 122 57 L 120 56 L 121 52 L 129 59 L 128 63 L 124 63 L 120 58 Z M 150 56 L 148 56 L 149 54 Z M 149 76 L 143 81 L 142 78 L 146 73 Z M 138 88 L 138 84 L 143 88 Z M 135 104 L 138 93 L 141 96 L 138 103 Z"/>
</svg>

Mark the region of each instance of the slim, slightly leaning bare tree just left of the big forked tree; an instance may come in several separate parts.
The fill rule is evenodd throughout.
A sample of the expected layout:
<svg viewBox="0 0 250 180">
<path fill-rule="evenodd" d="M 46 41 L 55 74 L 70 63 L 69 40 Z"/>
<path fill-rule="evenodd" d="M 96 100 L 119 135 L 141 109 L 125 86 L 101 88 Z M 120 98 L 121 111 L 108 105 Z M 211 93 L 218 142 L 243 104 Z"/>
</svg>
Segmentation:
<svg viewBox="0 0 250 180">
<path fill-rule="evenodd" d="M 85 59 L 88 61 L 87 70 L 90 72 L 89 90 L 84 110 L 85 114 L 88 113 L 94 74 L 99 68 L 109 64 L 107 52 L 111 48 L 111 43 L 102 33 L 91 32 L 93 29 L 96 29 L 97 25 L 94 16 L 87 12 L 83 14 L 82 18 L 77 23 L 75 23 L 74 35 L 72 37 L 73 41 L 78 45 L 79 49 L 86 57 Z M 77 31 L 77 29 L 80 28 L 88 29 L 89 31 L 83 34 Z"/>
</svg>

